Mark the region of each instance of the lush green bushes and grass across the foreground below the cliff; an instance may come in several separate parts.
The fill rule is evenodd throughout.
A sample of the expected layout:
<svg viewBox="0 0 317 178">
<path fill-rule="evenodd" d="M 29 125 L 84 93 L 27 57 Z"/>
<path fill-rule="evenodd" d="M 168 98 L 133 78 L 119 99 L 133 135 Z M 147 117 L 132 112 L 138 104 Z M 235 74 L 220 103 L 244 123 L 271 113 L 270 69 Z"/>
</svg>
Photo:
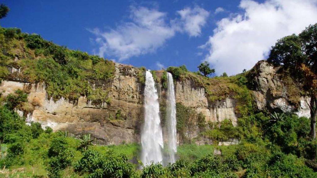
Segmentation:
<svg viewBox="0 0 317 178">
<path fill-rule="evenodd" d="M 311 141 L 309 119 L 288 114 L 262 113 L 238 119 L 232 130 L 225 121 L 214 130 L 220 135 L 239 132 L 233 146 L 182 145 L 178 161 L 162 166 L 137 164 L 139 145 L 91 145 L 65 137 L 64 132 L 26 125 L 6 106 L 0 107 L 2 151 L 0 167 L 11 177 L 316 177 L 316 141 Z M 308 127 L 307 127 L 308 124 Z M 208 129 L 206 129 L 208 133 Z M 85 140 L 85 141 L 84 141 Z M 85 142 L 85 143 L 84 143 Z M 4 144 L 3 144 L 4 143 Z M 221 155 L 214 155 L 214 150 Z M 9 168 L 9 169 L 8 169 Z M 33 168 L 33 170 L 32 170 Z M 23 172 L 19 173 L 19 169 Z M 0 173 L 1 176 L 1 173 Z"/>
</svg>

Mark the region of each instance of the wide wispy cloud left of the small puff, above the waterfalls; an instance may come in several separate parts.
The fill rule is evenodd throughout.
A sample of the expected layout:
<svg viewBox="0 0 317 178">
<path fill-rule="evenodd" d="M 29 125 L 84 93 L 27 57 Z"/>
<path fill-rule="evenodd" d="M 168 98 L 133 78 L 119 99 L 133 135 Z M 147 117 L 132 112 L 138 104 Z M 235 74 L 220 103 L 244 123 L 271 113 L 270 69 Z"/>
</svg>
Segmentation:
<svg viewBox="0 0 317 178">
<path fill-rule="evenodd" d="M 131 7 L 130 19 L 107 32 L 90 30 L 100 45 L 99 55 L 116 56 L 119 61 L 132 56 L 155 52 L 175 30 L 165 22 L 166 13 L 146 7 Z"/>
</svg>

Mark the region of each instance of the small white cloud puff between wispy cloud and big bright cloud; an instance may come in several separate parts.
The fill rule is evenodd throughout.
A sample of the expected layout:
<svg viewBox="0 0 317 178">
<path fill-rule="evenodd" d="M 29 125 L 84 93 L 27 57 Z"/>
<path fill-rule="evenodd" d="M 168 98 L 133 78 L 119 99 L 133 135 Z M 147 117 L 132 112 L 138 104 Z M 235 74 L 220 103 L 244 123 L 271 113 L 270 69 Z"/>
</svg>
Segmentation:
<svg viewBox="0 0 317 178">
<path fill-rule="evenodd" d="M 190 36 L 199 36 L 201 35 L 201 28 L 206 24 L 209 12 L 204 10 L 201 7 L 185 8 L 183 10 L 177 11 L 180 15 L 180 20 L 182 21 L 181 29 L 184 29 L 186 33 Z"/>
</svg>

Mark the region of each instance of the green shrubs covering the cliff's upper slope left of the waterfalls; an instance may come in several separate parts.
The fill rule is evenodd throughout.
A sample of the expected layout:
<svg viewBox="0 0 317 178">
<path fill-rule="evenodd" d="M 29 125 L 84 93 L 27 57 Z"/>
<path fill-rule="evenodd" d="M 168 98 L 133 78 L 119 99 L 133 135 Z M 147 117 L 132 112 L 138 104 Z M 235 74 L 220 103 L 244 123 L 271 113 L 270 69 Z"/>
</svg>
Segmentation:
<svg viewBox="0 0 317 178">
<path fill-rule="evenodd" d="M 15 28 L 0 28 L 0 51 L 0 80 L 45 82 L 46 91 L 54 100 L 64 97 L 76 101 L 87 96 L 95 105 L 109 102 L 107 88 L 114 76 L 112 61 L 69 50 Z M 21 72 L 10 74 L 8 67 Z"/>
</svg>

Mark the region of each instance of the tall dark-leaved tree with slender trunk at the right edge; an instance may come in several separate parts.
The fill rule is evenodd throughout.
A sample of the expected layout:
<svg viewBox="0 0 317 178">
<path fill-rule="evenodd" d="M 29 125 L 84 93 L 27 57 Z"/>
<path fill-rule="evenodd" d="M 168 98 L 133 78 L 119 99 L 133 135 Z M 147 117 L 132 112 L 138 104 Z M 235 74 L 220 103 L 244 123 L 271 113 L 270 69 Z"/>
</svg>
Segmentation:
<svg viewBox="0 0 317 178">
<path fill-rule="evenodd" d="M 316 138 L 317 23 L 309 25 L 299 35 L 293 34 L 278 40 L 272 47 L 268 62 L 280 66 L 304 85 L 311 97 L 311 137 Z"/>
</svg>

